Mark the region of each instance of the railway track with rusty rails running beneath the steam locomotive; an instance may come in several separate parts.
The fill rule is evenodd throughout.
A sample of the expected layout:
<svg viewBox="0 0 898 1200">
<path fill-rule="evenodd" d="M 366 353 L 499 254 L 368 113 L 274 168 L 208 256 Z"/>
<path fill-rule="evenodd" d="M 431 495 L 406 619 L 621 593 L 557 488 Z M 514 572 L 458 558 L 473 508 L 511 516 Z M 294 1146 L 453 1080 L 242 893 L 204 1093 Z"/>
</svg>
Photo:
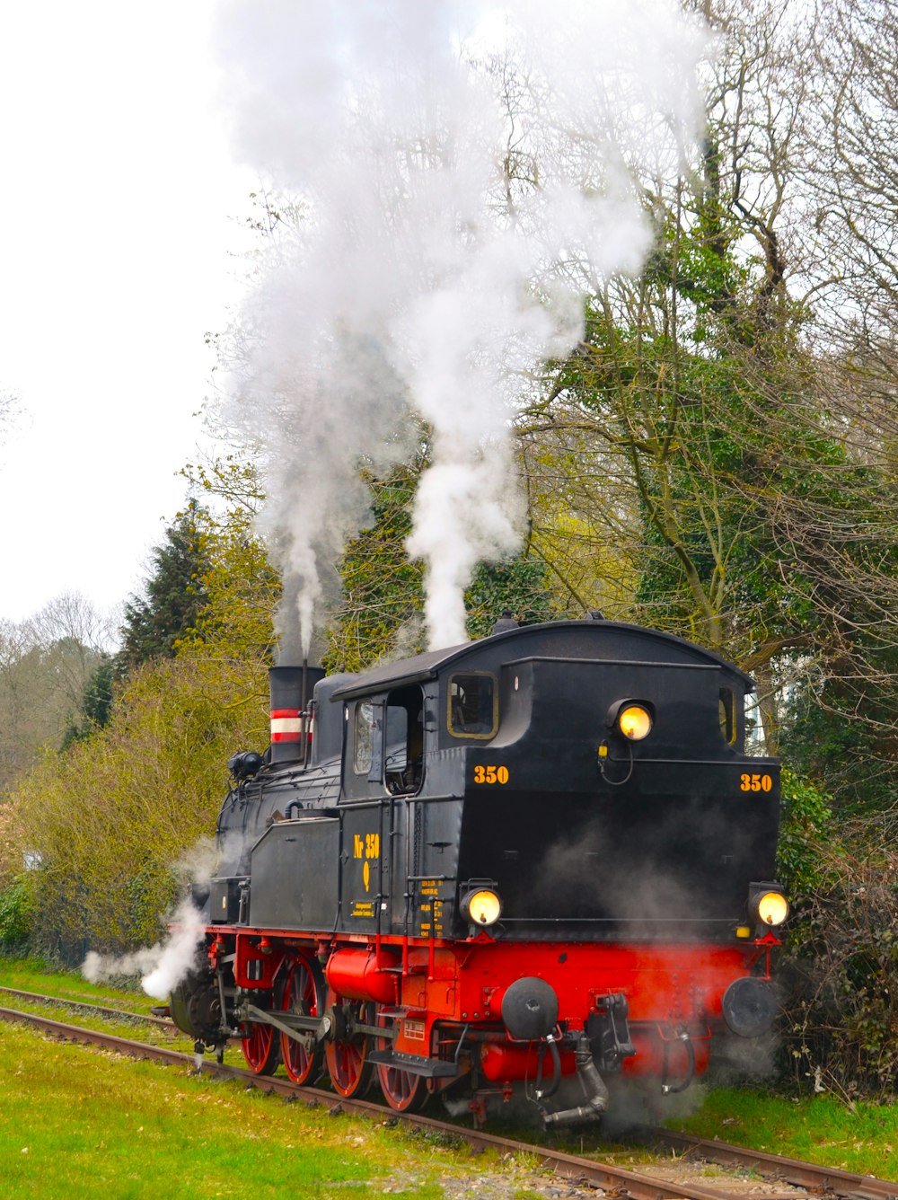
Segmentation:
<svg viewBox="0 0 898 1200">
<path fill-rule="evenodd" d="M 0 989 L 10 992 L 11 989 Z M 36 997 L 31 992 L 17 994 L 29 1000 L 49 1000 L 56 997 Z M 62 1001 L 68 1004 L 68 1001 Z M 117 1009 L 102 1009 L 101 1006 L 79 1006 L 88 1009 L 100 1009 L 116 1016 L 138 1016 L 140 1014 L 121 1013 Z M 161 1020 L 147 1018 L 149 1020 Z M 163 1062 L 210 1074 L 217 1079 L 239 1080 L 243 1086 L 253 1086 L 266 1093 L 275 1093 L 309 1105 L 325 1106 L 330 1112 L 352 1112 L 366 1115 L 378 1121 L 427 1130 L 434 1135 L 444 1135 L 465 1141 L 476 1148 L 490 1147 L 501 1154 L 528 1156 L 540 1164 L 542 1170 L 552 1171 L 562 1178 L 575 1181 L 590 1189 L 602 1189 L 614 1196 L 629 1196 L 632 1200 L 808 1200 L 808 1198 L 845 1198 L 845 1200 L 898 1200 L 898 1183 L 876 1180 L 873 1176 L 856 1175 L 837 1168 L 816 1166 L 812 1163 L 784 1158 L 759 1151 L 745 1150 L 725 1142 L 707 1141 L 685 1134 L 674 1134 L 663 1129 L 641 1132 L 641 1140 L 664 1147 L 667 1156 L 657 1165 L 640 1164 L 639 1169 L 620 1166 L 613 1163 L 598 1162 L 583 1154 L 569 1154 L 546 1146 L 496 1136 L 481 1129 L 464 1128 L 446 1121 L 421 1115 L 399 1114 L 380 1104 L 368 1100 L 344 1099 L 333 1092 L 317 1087 L 299 1086 L 288 1079 L 276 1075 L 254 1075 L 241 1067 L 230 1067 L 200 1058 L 197 1055 L 183 1054 L 165 1046 L 133 1042 L 98 1030 L 56 1021 L 52 1018 L 16 1008 L 0 1008 L 0 1020 L 18 1021 L 42 1032 L 66 1040 L 79 1042 L 108 1050 L 115 1050 L 129 1057 Z M 163 1024 L 164 1022 L 163 1020 Z M 676 1170 L 671 1172 L 670 1156 L 679 1156 Z M 686 1169 L 687 1160 L 694 1164 L 694 1177 Z M 717 1164 L 729 1174 L 715 1176 L 711 1182 L 705 1178 L 707 1164 Z M 673 1177 L 675 1174 L 675 1177 Z"/>
</svg>

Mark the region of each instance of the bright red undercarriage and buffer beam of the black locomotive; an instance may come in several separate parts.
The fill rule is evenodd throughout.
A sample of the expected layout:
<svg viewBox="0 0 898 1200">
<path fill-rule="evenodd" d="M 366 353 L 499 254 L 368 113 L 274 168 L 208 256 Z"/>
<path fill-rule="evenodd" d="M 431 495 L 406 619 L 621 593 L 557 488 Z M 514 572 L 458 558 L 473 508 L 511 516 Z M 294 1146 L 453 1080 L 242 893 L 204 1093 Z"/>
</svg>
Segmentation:
<svg viewBox="0 0 898 1200">
<path fill-rule="evenodd" d="M 603 997 L 623 995 L 635 1054 L 623 1058 L 622 1074 L 675 1085 L 704 1073 L 729 984 L 748 974 L 769 978 L 770 947 L 778 944 L 772 935 L 730 946 L 622 946 L 501 942 L 486 932 L 462 942 L 348 935 L 335 938 L 331 934 L 247 931 L 221 925 L 207 932 L 212 966 L 233 955 L 234 982 L 257 995 L 271 991 L 272 1010 L 293 1006 L 295 1012 L 320 1015 L 324 1003 L 330 1008 L 340 1001 L 361 1002 L 356 1009 L 376 1014 L 361 1020 L 390 1025 L 392 1051 L 409 1063 L 452 1060 L 466 1030 L 468 1038 L 474 1037 L 469 1044 L 477 1048 L 478 1075 L 493 1085 L 532 1080 L 542 1058 L 537 1043 L 514 1042 L 502 1025 L 502 996 L 522 977 L 536 977 L 554 989 L 559 1024 L 574 1034 L 584 1030 L 590 1014 L 601 1012 Z M 289 986 L 285 992 L 283 980 L 297 974 L 301 982 L 293 992 Z M 282 1038 L 282 1043 L 289 1051 L 289 1042 Z M 254 1066 L 246 1040 L 245 1051 Z M 287 1057 L 284 1061 L 291 1073 Z M 465 1061 L 470 1067 L 470 1058 Z M 339 1086 L 340 1063 L 337 1061 L 335 1067 L 330 1049 L 327 1067 Z M 381 1086 L 391 1099 L 385 1069 L 380 1068 Z M 562 1075 L 574 1069 L 574 1054 L 562 1051 Z M 430 1090 L 440 1086 L 444 1082 L 432 1076 Z M 339 1090 L 350 1094 L 345 1087 Z"/>
</svg>

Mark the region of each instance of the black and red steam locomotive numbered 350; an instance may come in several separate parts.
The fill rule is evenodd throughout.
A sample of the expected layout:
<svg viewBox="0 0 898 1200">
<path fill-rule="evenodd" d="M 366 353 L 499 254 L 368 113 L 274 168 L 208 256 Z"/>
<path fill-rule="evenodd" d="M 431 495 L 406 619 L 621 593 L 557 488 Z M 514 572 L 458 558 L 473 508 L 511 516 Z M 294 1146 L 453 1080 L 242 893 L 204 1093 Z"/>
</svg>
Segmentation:
<svg viewBox="0 0 898 1200">
<path fill-rule="evenodd" d="M 170 1001 L 199 1052 L 240 1038 L 253 1072 L 345 1097 L 376 1076 L 399 1111 L 524 1092 L 552 1126 L 770 1028 L 788 904 L 752 680 L 635 625 L 500 625 L 360 674 L 272 668 Z"/>
</svg>

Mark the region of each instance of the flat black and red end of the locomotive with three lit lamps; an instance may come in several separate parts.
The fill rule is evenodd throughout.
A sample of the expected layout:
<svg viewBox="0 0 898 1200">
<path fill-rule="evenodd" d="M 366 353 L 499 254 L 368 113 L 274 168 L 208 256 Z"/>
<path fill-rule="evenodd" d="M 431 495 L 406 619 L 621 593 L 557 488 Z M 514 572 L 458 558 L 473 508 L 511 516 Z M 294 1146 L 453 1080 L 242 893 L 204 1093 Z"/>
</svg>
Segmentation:
<svg viewBox="0 0 898 1200">
<path fill-rule="evenodd" d="M 547 1069 L 577 1072 L 590 1103 L 550 1123 L 595 1117 L 596 1072 L 680 1091 L 724 1028 L 759 1037 L 776 1014 L 778 764 L 743 752 L 746 677 L 667 649 L 505 665 L 502 725 L 470 754 L 459 875 L 496 898 L 489 986 L 558 1013 L 523 1055 L 526 1008 L 510 1000 L 508 1021 L 490 1000 L 508 1048 L 482 1069 L 499 1081 L 517 1067 L 537 1091 Z M 516 977 L 519 992 L 504 986 Z"/>
</svg>

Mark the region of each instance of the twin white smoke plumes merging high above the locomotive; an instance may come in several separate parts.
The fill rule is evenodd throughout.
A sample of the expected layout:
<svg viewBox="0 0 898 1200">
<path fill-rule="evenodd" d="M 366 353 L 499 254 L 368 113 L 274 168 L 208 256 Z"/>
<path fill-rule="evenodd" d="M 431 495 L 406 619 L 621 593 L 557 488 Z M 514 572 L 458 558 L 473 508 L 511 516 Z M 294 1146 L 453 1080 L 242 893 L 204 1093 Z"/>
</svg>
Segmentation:
<svg viewBox="0 0 898 1200">
<path fill-rule="evenodd" d="M 241 320 L 229 420 L 265 460 L 265 526 L 307 648 L 382 472 L 432 430 L 409 551 L 432 646 L 465 640 L 478 560 L 523 506 L 511 422 L 583 296 L 638 270 L 633 186 L 675 175 L 704 38 L 673 0 L 225 0 L 240 156 L 301 198 Z"/>
</svg>

